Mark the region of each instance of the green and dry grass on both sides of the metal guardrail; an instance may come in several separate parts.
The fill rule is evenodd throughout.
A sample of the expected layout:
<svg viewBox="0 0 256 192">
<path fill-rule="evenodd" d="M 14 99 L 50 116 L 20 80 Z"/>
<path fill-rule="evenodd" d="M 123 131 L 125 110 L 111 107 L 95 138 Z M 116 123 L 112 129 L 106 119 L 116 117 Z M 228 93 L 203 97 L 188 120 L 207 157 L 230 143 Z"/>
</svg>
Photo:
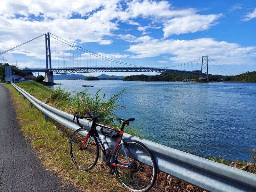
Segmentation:
<svg viewBox="0 0 256 192">
<path fill-rule="evenodd" d="M 11 84 L 6 84 L 5 86 L 8 87 L 12 92 L 17 117 L 20 121 L 23 134 L 26 140 L 31 140 L 31 145 L 36 149 L 37 156 L 42 160 L 44 167 L 53 173 L 58 173 L 58 176 L 64 182 L 76 185 L 79 189 L 81 189 L 81 191 L 126 191 L 126 189 L 122 187 L 119 181 L 116 179 L 116 176 L 109 174 L 108 167 L 105 163 L 100 161 L 100 158 L 96 166 L 89 172 L 78 170 L 73 164 L 69 154 L 69 141 L 73 131 L 51 120 L 50 118 L 48 121 L 44 121 L 43 114 L 35 107 L 30 108 L 29 102 L 27 100 L 23 100 L 18 92 L 12 88 Z M 106 104 L 108 101 L 97 98 L 97 94 L 96 96 L 94 95 L 94 97 L 90 95 L 88 96 L 86 91 L 78 94 L 74 92 L 66 92 L 60 88 L 53 91 L 41 84 L 37 84 L 36 82 L 32 82 L 30 84 L 20 83 L 19 86 L 27 92 L 32 93 L 37 99 L 47 102 L 48 105 L 59 108 L 60 110 L 69 112 L 71 114 L 74 111 L 78 111 L 77 109 L 90 110 L 89 106 L 94 106 L 95 112 L 101 114 L 112 110 L 113 114 L 110 116 L 112 119 L 105 120 L 102 118 L 101 120 L 103 123 L 111 124 L 115 118 L 115 110 L 117 108 L 124 108 L 116 104 L 120 97 L 122 97 L 123 93 L 113 96 L 113 98 L 111 98 L 112 104 L 111 102 Z M 76 95 L 76 99 L 71 98 L 74 95 Z M 89 97 L 89 99 L 86 99 L 86 97 Z M 116 102 L 113 102 L 113 100 Z M 75 104 L 75 107 L 71 108 L 70 105 L 74 104 L 75 102 L 77 102 L 77 104 Z M 78 102 L 82 102 L 82 104 L 79 104 Z M 84 114 L 85 111 L 83 110 L 80 111 L 81 114 Z M 113 126 L 113 124 L 111 125 Z M 115 126 L 117 128 L 119 127 L 118 122 L 115 123 Z M 140 136 L 140 132 L 138 132 L 135 127 L 130 128 L 130 134 Z M 251 162 L 236 161 L 230 164 L 229 161 L 226 161 L 220 157 L 213 157 L 210 158 L 210 160 L 222 164 L 228 164 L 229 166 L 256 174 L 256 157 L 254 156 L 255 151 L 256 149 L 252 149 L 251 157 L 253 160 Z M 191 154 L 193 154 L 193 151 Z M 192 186 L 191 184 L 181 181 L 166 173 L 158 172 L 156 184 L 151 191 L 203 192 L 205 190 Z"/>
</svg>

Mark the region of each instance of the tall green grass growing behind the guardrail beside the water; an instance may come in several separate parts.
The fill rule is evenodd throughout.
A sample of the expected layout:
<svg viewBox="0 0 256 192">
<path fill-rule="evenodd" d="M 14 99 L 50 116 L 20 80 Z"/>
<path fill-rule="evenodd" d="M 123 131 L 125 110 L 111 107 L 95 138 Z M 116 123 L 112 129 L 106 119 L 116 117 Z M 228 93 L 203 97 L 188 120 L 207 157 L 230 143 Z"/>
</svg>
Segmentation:
<svg viewBox="0 0 256 192">
<path fill-rule="evenodd" d="M 102 123 L 110 124 L 114 127 L 120 127 L 120 123 L 116 120 L 117 110 L 126 108 L 118 104 L 123 99 L 125 90 L 116 93 L 107 100 L 106 92 L 103 94 L 103 97 L 99 96 L 99 92 L 102 89 L 91 95 L 88 89 L 76 93 L 68 92 L 60 86 L 52 90 L 36 82 L 21 82 L 18 85 L 25 91 L 33 94 L 37 99 L 47 102 L 47 104 L 67 113 L 74 114 L 77 111 L 79 115 L 86 115 L 86 111 L 94 111 L 101 115 L 99 120 Z"/>
</svg>

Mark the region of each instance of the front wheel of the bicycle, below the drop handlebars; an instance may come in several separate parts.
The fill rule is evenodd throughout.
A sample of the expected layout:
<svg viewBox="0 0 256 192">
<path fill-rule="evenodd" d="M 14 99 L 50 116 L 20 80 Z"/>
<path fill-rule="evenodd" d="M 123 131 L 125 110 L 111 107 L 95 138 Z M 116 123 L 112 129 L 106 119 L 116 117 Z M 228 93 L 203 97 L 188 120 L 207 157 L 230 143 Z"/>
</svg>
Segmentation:
<svg viewBox="0 0 256 192">
<path fill-rule="evenodd" d="M 74 132 L 70 140 L 70 155 L 74 164 L 81 170 L 88 171 L 92 169 L 99 158 L 99 145 L 96 137 L 88 137 L 86 139 L 88 131 L 86 129 L 78 129 Z M 84 143 L 83 148 L 81 148 Z"/>
</svg>

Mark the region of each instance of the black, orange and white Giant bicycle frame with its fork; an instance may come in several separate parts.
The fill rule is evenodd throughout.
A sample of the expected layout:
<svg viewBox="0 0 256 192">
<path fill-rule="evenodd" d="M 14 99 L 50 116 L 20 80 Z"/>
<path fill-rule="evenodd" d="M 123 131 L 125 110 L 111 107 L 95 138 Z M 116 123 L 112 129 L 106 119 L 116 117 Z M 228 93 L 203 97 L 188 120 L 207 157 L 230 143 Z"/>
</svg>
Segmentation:
<svg viewBox="0 0 256 192">
<path fill-rule="evenodd" d="M 126 123 L 123 123 L 121 130 L 119 130 L 119 129 L 115 129 L 115 128 L 113 128 L 113 127 L 108 127 L 108 126 L 106 126 L 106 125 L 103 125 L 103 124 L 100 124 L 100 123 L 96 123 L 95 121 L 93 121 L 93 122 L 92 122 L 92 127 L 91 127 L 90 131 L 87 133 L 87 135 L 86 135 L 86 137 L 85 137 L 85 139 L 84 139 L 84 142 L 83 142 L 83 144 L 82 144 L 81 147 L 80 147 L 80 150 L 82 150 L 82 148 L 84 147 L 84 144 L 86 143 L 86 141 L 89 139 L 89 142 L 90 142 L 90 139 L 91 139 L 92 135 L 95 135 L 95 137 L 96 137 L 96 139 L 97 139 L 97 141 L 98 141 L 98 143 L 99 143 L 99 145 L 100 145 L 101 151 L 102 151 L 102 153 L 103 153 L 103 155 L 104 155 L 104 158 L 106 159 L 106 162 L 108 162 L 108 159 L 106 158 L 107 152 L 106 152 L 106 150 L 105 150 L 104 147 L 103 147 L 103 143 L 102 143 L 101 140 L 100 140 L 100 137 L 99 137 L 99 134 L 98 134 L 98 132 L 97 132 L 97 130 L 96 130 L 96 127 L 99 126 L 99 127 L 104 127 L 104 128 L 108 128 L 108 129 L 117 131 L 117 132 L 120 133 L 120 136 L 119 136 L 119 137 L 117 138 L 117 140 L 116 140 L 116 145 L 115 145 L 113 154 L 112 154 L 112 156 L 111 156 L 111 158 L 110 158 L 109 165 L 111 165 L 111 166 L 125 167 L 125 168 L 131 168 L 131 164 L 130 164 L 130 162 L 129 162 L 129 159 L 128 159 L 126 150 L 125 150 L 125 148 L 124 148 L 124 142 L 123 142 L 123 139 L 122 139 L 123 134 L 124 134 L 124 131 L 123 131 L 123 130 L 124 130 L 125 124 L 126 124 Z M 128 123 L 128 125 L 129 125 L 129 123 Z M 87 143 L 87 145 L 89 144 L 89 142 Z M 123 148 L 124 148 L 124 155 L 125 155 L 125 157 L 126 157 L 128 163 L 118 163 L 118 164 L 113 163 L 113 158 L 114 158 L 115 151 L 116 151 L 117 147 L 118 147 L 120 144 L 121 144 L 121 145 L 123 146 Z M 87 148 L 87 146 L 85 146 L 85 148 Z M 127 166 L 127 164 L 128 164 L 128 166 Z"/>
</svg>

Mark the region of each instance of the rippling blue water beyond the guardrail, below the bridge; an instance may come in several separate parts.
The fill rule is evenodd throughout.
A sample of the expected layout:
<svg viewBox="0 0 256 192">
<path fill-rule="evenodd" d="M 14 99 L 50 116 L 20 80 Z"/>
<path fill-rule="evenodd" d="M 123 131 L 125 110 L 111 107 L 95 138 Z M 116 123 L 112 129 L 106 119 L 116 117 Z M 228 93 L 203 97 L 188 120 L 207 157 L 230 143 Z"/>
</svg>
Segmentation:
<svg viewBox="0 0 256 192">
<path fill-rule="evenodd" d="M 81 92 L 83 84 L 103 87 L 108 98 L 126 90 L 118 116 L 134 117 L 151 141 L 198 156 L 249 160 L 256 148 L 255 83 L 190 83 L 55 80 L 68 91 Z M 54 85 L 56 88 L 56 85 Z"/>
</svg>

